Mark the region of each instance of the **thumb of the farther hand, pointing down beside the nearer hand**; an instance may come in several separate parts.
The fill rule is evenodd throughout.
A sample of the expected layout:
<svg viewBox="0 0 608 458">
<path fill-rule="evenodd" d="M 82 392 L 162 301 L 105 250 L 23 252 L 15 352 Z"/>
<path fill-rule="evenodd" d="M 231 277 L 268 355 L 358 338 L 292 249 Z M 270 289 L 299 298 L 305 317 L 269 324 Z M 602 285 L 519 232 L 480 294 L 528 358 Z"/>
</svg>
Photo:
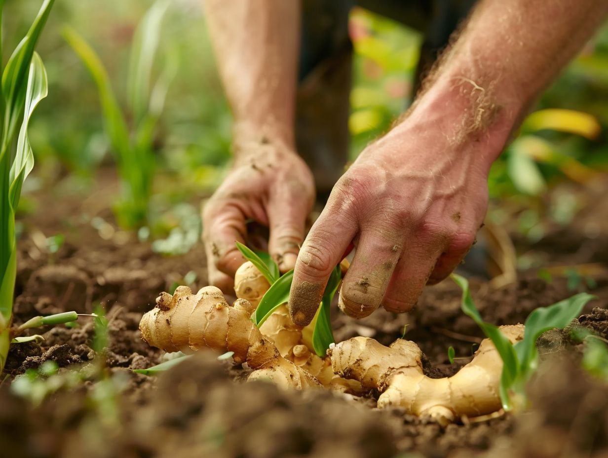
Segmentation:
<svg viewBox="0 0 608 458">
<path fill-rule="evenodd" d="M 268 208 L 268 251 L 281 272 L 295 267 L 295 260 L 304 241 L 307 215 L 306 206 L 297 202 L 281 201 Z"/>
</svg>

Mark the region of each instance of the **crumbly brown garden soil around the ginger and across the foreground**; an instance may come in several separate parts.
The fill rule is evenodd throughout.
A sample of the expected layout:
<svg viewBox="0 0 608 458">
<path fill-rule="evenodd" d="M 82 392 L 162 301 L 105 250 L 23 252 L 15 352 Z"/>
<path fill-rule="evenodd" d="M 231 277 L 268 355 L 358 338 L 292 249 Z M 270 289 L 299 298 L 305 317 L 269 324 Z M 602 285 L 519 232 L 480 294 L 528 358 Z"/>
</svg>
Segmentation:
<svg viewBox="0 0 608 458">
<path fill-rule="evenodd" d="M 582 345 L 556 333 L 543 341 L 542 370 L 531 385 L 534 408 L 481 422 L 441 428 L 404 414 L 378 411 L 372 396 L 353 400 L 328 392 L 281 392 L 264 383 L 241 383 L 245 370 L 200 352 L 157 377 L 131 372 L 161 361 L 162 352 L 139 338 L 137 325 L 161 291 L 188 271 L 204 286 L 204 252 L 162 257 L 133 235 L 104 240 L 83 218 L 77 196 L 36 195 L 40 211 L 23 219 L 19 241 L 15 323 L 37 314 L 105 306 L 109 346 L 92 350 L 89 318 L 77 328 L 36 330 L 45 341 L 13 345 L 5 372 L 10 376 L 52 359 L 61 373 L 105 364 L 76 389 L 61 389 L 38 406 L 0 386 L 0 456 L 4 457 L 395 457 L 401 456 L 604 456 L 608 453 L 608 388 L 579 369 Z M 113 221 L 107 210 L 100 213 Z M 116 227 L 114 227 L 116 229 Z M 64 234 L 66 243 L 48 254 L 39 234 Z M 578 260 L 578 258 L 577 258 Z M 578 260 L 589 262 L 590 259 Z M 608 338 L 608 277 L 596 277 L 598 295 L 579 322 Z M 565 279 L 547 283 L 523 272 L 515 285 L 494 290 L 472 282 L 478 308 L 496 324 L 523 322 L 536 307 L 571 296 Z M 579 286 L 584 290 L 583 286 Z M 592 311 L 592 308 L 596 307 Z M 455 373 L 468 362 L 480 333 L 460 311 L 460 290 L 446 281 L 427 288 L 415 311 L 378 311 L 353 321 L 333 311 L 337 341 L 354 335 L 389 344 L 407 326 L 407 338 L 425 353 L 428 375 Z M 557 342 L 557 343 L 556 343 Z M 455 348 L 457 363 L 447 361 Z M 554 349 L 566 351 L 554 352 Z M 573 350 L 573 351 L 571 351 Z M 105 375 L 103 375 L 105 374 Z M 100 395 L 93 378 L 114 381 Z M 86 377 L 85 377 L 86 379 Z M 567 453 L 566 453 L 567 452 Z"/>
</svg>

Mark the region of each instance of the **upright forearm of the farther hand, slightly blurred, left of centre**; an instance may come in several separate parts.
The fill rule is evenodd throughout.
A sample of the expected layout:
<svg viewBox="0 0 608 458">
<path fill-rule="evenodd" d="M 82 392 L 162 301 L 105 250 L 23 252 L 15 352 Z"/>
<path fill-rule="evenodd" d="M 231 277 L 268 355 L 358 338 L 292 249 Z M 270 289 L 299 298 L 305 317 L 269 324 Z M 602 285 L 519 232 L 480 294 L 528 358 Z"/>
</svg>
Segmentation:
<svg viewBox="0 0 608 458">
<path fill-rule="evenodd" d="M 239 145 L 294 144 L 300 4 L 285 0 L 207 0 L 219 71 Z"/>
</svg>

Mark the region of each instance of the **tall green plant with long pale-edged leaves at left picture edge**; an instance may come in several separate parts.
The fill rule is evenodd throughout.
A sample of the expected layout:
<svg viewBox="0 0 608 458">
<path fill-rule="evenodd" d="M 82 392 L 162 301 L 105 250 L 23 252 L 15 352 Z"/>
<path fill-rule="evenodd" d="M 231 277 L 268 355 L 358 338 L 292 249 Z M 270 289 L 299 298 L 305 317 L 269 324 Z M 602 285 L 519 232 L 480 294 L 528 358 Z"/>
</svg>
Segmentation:
<svg viewBox="0 0 608 458">
<path fill-rule="evenodd" d="M 27 128 L 36 105 L 47 95 L 46 71 L 34 48 L 53 4 L 54 0 L 43 2 L 32 26 L 13 51 L 2 71 L 0 91 L 0 116 L 2 116 L 2 137 L 0 139 L 0 373 L 4 368 L 9 344 L 12 340 L 10 326 L 17 269 L 15 211 L 21 197 L 23 181 L 33 167 L 33 153 L 27 136 Z M 1 1 L 0 19 L 3 7 L 4 1 Z M 18 134 L 15 135 L 17 131 Z"/>
</svg>

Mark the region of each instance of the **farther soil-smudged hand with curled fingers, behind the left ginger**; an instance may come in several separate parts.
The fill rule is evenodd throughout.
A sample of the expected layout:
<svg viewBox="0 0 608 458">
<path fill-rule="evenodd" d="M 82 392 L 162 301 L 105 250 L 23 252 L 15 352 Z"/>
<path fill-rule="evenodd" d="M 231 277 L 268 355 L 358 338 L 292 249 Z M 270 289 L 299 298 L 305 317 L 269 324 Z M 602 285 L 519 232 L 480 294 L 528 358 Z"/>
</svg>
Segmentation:
<svg viewBox="0 0 608 458">
<path fill-rule="evenodd" d="M 224 292 L 245 261 L 235 241 L 245 243 L 246 223 L 269 227 L 269 253 L 286 272 L 294 268 L 314 204 L 314 179 L 292 148 L 276 143 L 241 145 L 224 182 L 202 210 L 202 240 L 209 283 Z"/>
</svg>

